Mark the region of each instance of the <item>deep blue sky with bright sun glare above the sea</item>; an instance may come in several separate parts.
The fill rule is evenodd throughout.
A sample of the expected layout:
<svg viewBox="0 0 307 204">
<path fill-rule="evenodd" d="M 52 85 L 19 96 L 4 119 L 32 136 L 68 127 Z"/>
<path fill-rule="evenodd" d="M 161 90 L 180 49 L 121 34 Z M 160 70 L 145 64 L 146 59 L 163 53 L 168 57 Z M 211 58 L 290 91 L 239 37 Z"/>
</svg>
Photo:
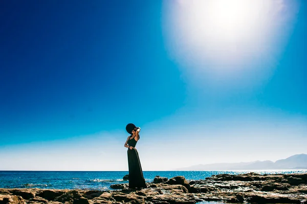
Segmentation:
<svg viewBox="0 0 307 204">
<path fill-rule="evenodd" d="M 307 4 L 238 1 L 2 3 L 0 169 L 127 170 L 127 123 L 143 170 L 307 153 Z"/>
</svg>

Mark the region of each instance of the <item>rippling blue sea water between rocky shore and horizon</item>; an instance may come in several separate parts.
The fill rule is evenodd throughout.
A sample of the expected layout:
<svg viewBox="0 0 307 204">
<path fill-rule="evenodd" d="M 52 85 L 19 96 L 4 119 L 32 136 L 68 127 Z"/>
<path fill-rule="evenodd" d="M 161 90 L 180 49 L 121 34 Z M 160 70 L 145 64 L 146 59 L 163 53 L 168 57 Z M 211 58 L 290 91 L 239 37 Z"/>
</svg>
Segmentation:
<svg viewBox="0 0 307 204">
<path fill-rule="evenodd" d="M 188 180 L 199 180 L 217 174 L 260 174 L 307 173 L 307 170 L 254 170 L 254 171 L 144 171 L 146 182 L 156 175 L 164 177 L 184 176 Z M 112 184 L 128 183 L 122 178 L 127 171 L 0 171 L 0 188 L 41 189 L 91 189 L 112 190 Z"/>
</svg>

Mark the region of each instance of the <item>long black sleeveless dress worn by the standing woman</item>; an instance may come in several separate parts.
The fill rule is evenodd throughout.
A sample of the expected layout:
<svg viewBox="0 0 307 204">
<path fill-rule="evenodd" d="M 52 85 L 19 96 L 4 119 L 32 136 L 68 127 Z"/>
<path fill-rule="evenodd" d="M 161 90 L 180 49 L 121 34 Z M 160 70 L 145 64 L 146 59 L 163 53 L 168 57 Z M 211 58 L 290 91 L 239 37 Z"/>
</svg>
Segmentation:
<svg viewBox="0 0 307 204">
<path fill-rule="evenodd" d="M 130 136 L 128 145 L 136 147 L 137 141 Z M 139 153 L 136 149 L 128 148 L 129 188 L 147 188 L 140 163 Z"/>
</svg>

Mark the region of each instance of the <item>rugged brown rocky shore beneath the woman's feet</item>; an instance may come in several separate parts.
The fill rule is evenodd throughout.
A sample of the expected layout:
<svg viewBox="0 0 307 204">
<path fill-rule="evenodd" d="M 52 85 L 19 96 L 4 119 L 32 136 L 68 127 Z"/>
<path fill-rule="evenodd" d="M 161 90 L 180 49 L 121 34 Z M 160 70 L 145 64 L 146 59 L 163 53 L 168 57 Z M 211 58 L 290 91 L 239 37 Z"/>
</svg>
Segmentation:
<svg viewBox="0 0 307 204">
<path fill-rule="evenodd" d="M 147 189 L 112 185 L 111 191 L 0 189 L 0 204 L 13 203 L 301 203 L 307 204 L 307 173 L 213 175 L 204 180 L 156 176 Z"/>
</svg>

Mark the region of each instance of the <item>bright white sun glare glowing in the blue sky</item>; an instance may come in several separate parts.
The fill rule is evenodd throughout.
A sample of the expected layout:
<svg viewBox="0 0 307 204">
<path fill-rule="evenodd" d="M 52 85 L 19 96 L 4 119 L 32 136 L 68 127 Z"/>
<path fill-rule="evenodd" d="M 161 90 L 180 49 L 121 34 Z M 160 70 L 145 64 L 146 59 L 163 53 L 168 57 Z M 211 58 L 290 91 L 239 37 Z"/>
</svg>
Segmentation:
<svg viewBox="0 0 307 204">
<path fill-rule="evenodd" d="M 215 73 L 244 70 L 275 57 L 282 38 L 278 32 L 289 28 L 293 10 L 282 0 L 166 2 L 166 42 L 185 66 Z"/>
</svg>

